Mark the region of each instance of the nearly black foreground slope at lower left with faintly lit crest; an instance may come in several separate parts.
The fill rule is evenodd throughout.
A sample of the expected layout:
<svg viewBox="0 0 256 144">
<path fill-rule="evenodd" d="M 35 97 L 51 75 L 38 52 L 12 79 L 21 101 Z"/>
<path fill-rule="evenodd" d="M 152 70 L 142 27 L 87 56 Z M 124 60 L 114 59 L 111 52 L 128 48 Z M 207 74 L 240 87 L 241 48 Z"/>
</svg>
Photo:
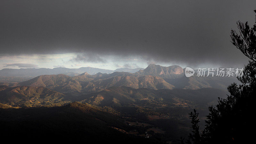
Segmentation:
<svg viewBox="0 0 256 144">
<path fill-rule="evenodd" d="M 0 109 L 1 138 L 14 141 L 84 141 L 84 143 L 160 143 L 155 138 L 126 134 L 129 130 L 114 110 L 90 104 L 63 107 Z M 34 141 L 34 142 L 36 142 Z"/>
</svg>

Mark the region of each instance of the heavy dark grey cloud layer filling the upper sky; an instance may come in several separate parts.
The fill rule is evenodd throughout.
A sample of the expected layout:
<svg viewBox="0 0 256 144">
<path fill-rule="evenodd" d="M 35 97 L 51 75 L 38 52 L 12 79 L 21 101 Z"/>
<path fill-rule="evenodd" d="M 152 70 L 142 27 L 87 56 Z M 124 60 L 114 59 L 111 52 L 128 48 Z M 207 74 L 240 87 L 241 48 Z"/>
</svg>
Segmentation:
<svg viewBox="0 0 256 144">
<path fill-rule="evenodd" d="M 252 25 L 254 9 L 255 0 L 2 0 L 0 48 L 5 54 L 91 52 L 92 61 L 138 55 L 192 65 L 246 63 L 229 33 L 237 20 Z"/>
</svg>

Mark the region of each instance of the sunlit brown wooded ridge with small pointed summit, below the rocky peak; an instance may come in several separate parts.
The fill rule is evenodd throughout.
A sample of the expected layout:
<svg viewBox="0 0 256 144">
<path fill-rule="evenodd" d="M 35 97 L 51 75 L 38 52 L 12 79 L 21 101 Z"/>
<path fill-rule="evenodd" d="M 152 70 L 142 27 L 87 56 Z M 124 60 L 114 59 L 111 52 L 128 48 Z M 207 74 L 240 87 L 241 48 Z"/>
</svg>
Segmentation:
<svg viewBox="0 0 256 144">
<path fill-rule="evenodd" d="M 129 86 L 132 88 L 173 89 L 174 86 L 157 76 L 136 77 L 132 73 L 115 72 L 112 74 L 89 75 L 83 73 L 78 76 L 42 75 L 18 85 L 39 87 L 44 86 L 58 92 L 94 92 L 112 86 Z"/>
</svg>

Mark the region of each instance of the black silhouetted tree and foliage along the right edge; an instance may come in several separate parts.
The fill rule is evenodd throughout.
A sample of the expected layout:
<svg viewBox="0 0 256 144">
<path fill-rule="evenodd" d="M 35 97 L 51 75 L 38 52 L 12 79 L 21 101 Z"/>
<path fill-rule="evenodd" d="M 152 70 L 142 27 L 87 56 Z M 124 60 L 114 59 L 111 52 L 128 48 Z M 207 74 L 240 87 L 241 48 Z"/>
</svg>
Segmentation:
<svg viewBox="0 0 256 144">
<path fill-rule="evenodd" d="M 256 10 L 254 10 L 256 13 Z M 256 23 L 256 16 L 255 16 Z M 220 99 L 216 107 L 209 107 L 209 115 L 205 121 L 205 128 L 199 134 L 198 113 L 194 110 L 189 115 L 192 123 L 192 134 L 187 143 L 215 144 L 215 143 L 247 143 L 255 141 L 252 131 L 254 122 L 254 104 L 256 96 L 256 24 L 252 28 L 248 23 L 237 21 L 239 33 L 231 30 L 231 42 L 247 56 L 249 64 L 244 66 L 242 76 L 237 79 L 242 83 L 228 86 L 230 95 Z"/>
</svg>

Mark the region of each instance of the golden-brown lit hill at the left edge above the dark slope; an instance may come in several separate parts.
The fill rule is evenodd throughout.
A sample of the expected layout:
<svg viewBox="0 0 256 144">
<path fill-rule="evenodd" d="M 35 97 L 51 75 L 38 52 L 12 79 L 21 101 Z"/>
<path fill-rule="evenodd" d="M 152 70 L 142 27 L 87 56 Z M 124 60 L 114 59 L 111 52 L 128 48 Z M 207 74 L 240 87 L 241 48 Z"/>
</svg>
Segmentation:
<svg viewBox="0 0 256 144">
<path fill-rule="evenodd" d="M 15 107 L 61 106 L 71 102 L 63 100 L 65 97 L 66 95 L 43 86 L 8 87 L 0 85 L 0 103 Z"/>
</svg>

